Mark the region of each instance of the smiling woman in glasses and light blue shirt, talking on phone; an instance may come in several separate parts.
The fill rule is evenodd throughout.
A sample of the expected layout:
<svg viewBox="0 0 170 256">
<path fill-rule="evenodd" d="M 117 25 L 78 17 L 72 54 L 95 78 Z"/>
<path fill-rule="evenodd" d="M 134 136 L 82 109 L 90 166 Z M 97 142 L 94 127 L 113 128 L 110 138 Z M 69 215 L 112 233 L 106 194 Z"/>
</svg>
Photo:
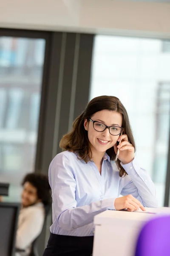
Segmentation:
<svg viewBox="0 0 170 256">
<path fill-rule="evenodd" d="M 60 147 L 65 151 L 49 167 L 53 224 L 44 256 L 90 256 L 96 214 L 156 207 L 153 182 L 134 158 L 129 119 L 118 98 L 92 99 Z"/>
</svg>

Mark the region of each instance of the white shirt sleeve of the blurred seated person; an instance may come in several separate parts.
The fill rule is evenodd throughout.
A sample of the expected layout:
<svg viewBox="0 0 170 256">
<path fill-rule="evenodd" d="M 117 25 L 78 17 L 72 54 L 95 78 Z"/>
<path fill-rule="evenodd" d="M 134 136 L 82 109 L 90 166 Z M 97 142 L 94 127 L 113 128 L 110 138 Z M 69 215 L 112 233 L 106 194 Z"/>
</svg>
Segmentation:
<svg viewBox="0 0 170 256">
<path fill-rule="evenodd" d="M 32 209 L 26 213 L 24 221 L 17 229 L 16 248 L 26 249 L 41 233 L 44 214 L 41 209 Z"/>
</svg>

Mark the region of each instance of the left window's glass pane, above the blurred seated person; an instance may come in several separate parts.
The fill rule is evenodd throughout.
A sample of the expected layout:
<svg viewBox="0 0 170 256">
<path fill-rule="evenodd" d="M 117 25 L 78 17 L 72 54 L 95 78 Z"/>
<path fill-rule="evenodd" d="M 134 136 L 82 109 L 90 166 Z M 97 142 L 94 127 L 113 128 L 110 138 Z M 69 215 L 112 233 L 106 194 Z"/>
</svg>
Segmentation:
<svg viewBox="0 0 170 256">
<path fill-rule="evenodd" d="M 34 171 L 45 40 L 0 37 L 0 181 L 6 201 L 20 201 L 20 183 Z"/>
</svg>

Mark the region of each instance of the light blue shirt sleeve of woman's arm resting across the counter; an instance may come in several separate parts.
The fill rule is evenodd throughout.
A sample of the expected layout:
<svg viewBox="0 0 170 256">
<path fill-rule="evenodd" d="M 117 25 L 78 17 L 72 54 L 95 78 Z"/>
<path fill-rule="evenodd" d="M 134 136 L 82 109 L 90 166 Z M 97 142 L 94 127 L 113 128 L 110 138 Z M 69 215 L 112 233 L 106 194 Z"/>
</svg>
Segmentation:
<svg viewBox="0 0 170 256">
<path fill-rule="evenodd" d="M 49 167 L 49 182 L 52 190 L 53 211 L 60 228 L 72 231 L 94 221 L 94 216 L 105 210 L 113 210 L 116 198 L 104 199 L 77 207 L 76 179 L 71 160 L 57 155 Z"/>
</svg>

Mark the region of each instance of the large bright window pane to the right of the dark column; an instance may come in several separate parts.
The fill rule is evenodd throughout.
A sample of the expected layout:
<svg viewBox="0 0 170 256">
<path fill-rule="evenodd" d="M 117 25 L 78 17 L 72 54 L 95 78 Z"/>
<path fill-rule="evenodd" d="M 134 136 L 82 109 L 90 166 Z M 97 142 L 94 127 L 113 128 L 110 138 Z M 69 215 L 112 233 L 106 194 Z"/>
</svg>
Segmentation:
<svg viewBox="0 0 170 256">
<path fill-rule="evenodd" d="M 137 158 L 155 183 L 159 206 L 164 204 L 170 130 L 169 67 L 170 52 L 164 51 L 164 41 L 104 35 L 95 38 L 90 99 L 113 95 L 125 105 Z"/>
</svg>

